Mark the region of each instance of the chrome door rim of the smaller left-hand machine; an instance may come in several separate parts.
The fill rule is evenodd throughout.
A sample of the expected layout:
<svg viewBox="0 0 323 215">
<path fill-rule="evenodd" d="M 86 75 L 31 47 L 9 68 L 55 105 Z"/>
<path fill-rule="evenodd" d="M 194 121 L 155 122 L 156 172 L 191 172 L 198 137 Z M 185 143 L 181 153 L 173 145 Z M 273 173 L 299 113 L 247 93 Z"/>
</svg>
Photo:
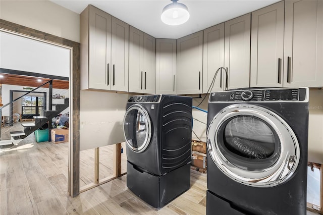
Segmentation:
<svg viewBox="0 0 323 215">
<path fill-rule="evenodd" d="M 126 118 L 130 114 L 130 112 L 132 112 L 132 111 L 138 111 L 139 113 L 141 113 L 143 115 L 144 119 L 146 119 L 147 135 L 145 137 L 144 143 L 139 147 L 133 147 L 133 145 L 127 139 L 127 136 L 126 136 L 126 133 L 125 133 L 125 125 L 127 125 Z M 136 128 L 134 127 L 133 129 L 136 129 Z M 128 108 L 128 110 L 126 111 L 126 114 L 125 114 L 124 120 L 123 120 L 123 134 L 124 134 L 127 146 L 132 151 L 137 152 L 137 153 L 140 153 L 140 152 L 144 151 L 148 147 L 148 145 L 150 143 L 151 133 L 152 133 L 151 121 L 150 121 L 150 117 L 149 117 L 149 114 L 146 111 L 146 109 L 141 104 L 133 104 L 133 105 L 131 105 L 130 108 Z"/>
</svg>

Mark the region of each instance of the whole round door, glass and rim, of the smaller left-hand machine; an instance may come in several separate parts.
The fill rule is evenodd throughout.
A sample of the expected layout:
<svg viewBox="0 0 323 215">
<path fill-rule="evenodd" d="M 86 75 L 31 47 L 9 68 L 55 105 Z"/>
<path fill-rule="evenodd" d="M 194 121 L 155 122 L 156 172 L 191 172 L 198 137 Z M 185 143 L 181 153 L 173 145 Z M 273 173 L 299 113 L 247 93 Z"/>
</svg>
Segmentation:
<svg viewBox="0 0 323 215">
<path fill-rule="evenodd" d="M 147 111 L 140 104 L 134 104 L 127 110 L 123 131 L 127 146 L 134 152 L 144 151 L 151 139 L 151 121 Z"/>
</svg>

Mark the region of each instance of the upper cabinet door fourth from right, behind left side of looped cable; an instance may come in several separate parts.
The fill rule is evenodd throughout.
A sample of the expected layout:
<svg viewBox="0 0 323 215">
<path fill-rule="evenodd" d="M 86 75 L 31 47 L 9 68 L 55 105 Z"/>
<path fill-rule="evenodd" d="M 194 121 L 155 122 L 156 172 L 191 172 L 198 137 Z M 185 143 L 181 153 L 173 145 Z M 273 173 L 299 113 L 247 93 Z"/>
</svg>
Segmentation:
<svg viewBox="0 0 323 215">
<path fill-rule="evenodd" d="M 221 23 L 203 31 L 203 93 L 224 90 L 224 75 L 221 71 L 217 73 L 212 84 L 217 70 L 223 66 L 224 23 Z M 212 88 L 210 88 L 211 84 Z"/>
</svg>

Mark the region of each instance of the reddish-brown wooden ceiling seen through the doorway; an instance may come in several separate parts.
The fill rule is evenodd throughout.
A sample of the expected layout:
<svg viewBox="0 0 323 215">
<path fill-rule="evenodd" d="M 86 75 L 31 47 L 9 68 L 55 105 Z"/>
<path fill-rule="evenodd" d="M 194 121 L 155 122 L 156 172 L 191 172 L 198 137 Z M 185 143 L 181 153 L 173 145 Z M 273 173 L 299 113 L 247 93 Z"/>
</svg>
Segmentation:
<svg viewBox="0 0 323 215">
<path fill-rule="evenodd" d="M 40 78 L 33 76 L 24 76 L 24 75 L 13 75 L 7 73 L 1 73 L 2 77 L 0 78 L 0 84 L 9 84 L 9 85 L 18 85 L 18 86 L 29 86 L 29 87 L 38 87 L 47 81 L 49 78 Z M 40 81 L 38 81 L 40 80 Z M 48 84 L 43 86 L 48 88 Z M 53 89 L 69 89 L 69 81 L 65 80 L 56 80 L 52 81 Z"/>
</svg>

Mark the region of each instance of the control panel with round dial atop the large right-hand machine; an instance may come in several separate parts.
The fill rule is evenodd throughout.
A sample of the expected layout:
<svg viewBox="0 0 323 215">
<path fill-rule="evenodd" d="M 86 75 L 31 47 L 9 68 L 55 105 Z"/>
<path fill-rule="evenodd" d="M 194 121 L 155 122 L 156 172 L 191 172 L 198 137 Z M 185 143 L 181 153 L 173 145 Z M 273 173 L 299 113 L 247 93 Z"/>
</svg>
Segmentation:
<svg viewBox="0 0 323 215">
<path fill-rule="evenodd" d="M 211 92 L 210 102 L 305 101 L 307 88 L 267 88 Z"/>
</svg>

